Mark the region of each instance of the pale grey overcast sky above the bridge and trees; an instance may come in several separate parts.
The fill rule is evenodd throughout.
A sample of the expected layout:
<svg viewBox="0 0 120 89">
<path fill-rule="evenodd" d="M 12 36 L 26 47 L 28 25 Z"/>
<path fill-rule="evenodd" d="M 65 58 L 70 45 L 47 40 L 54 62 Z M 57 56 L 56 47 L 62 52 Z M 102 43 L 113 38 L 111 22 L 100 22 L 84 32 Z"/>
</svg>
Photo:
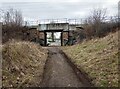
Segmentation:
<svg viewBox="0 0 120 89">
<path fill-rule="evenodd" d="M 0 8 L 21 10 L 25 20 L 86 18 L 94 8 L 118 13 L 119 0 L 0 0 Z"/>
</svg>

